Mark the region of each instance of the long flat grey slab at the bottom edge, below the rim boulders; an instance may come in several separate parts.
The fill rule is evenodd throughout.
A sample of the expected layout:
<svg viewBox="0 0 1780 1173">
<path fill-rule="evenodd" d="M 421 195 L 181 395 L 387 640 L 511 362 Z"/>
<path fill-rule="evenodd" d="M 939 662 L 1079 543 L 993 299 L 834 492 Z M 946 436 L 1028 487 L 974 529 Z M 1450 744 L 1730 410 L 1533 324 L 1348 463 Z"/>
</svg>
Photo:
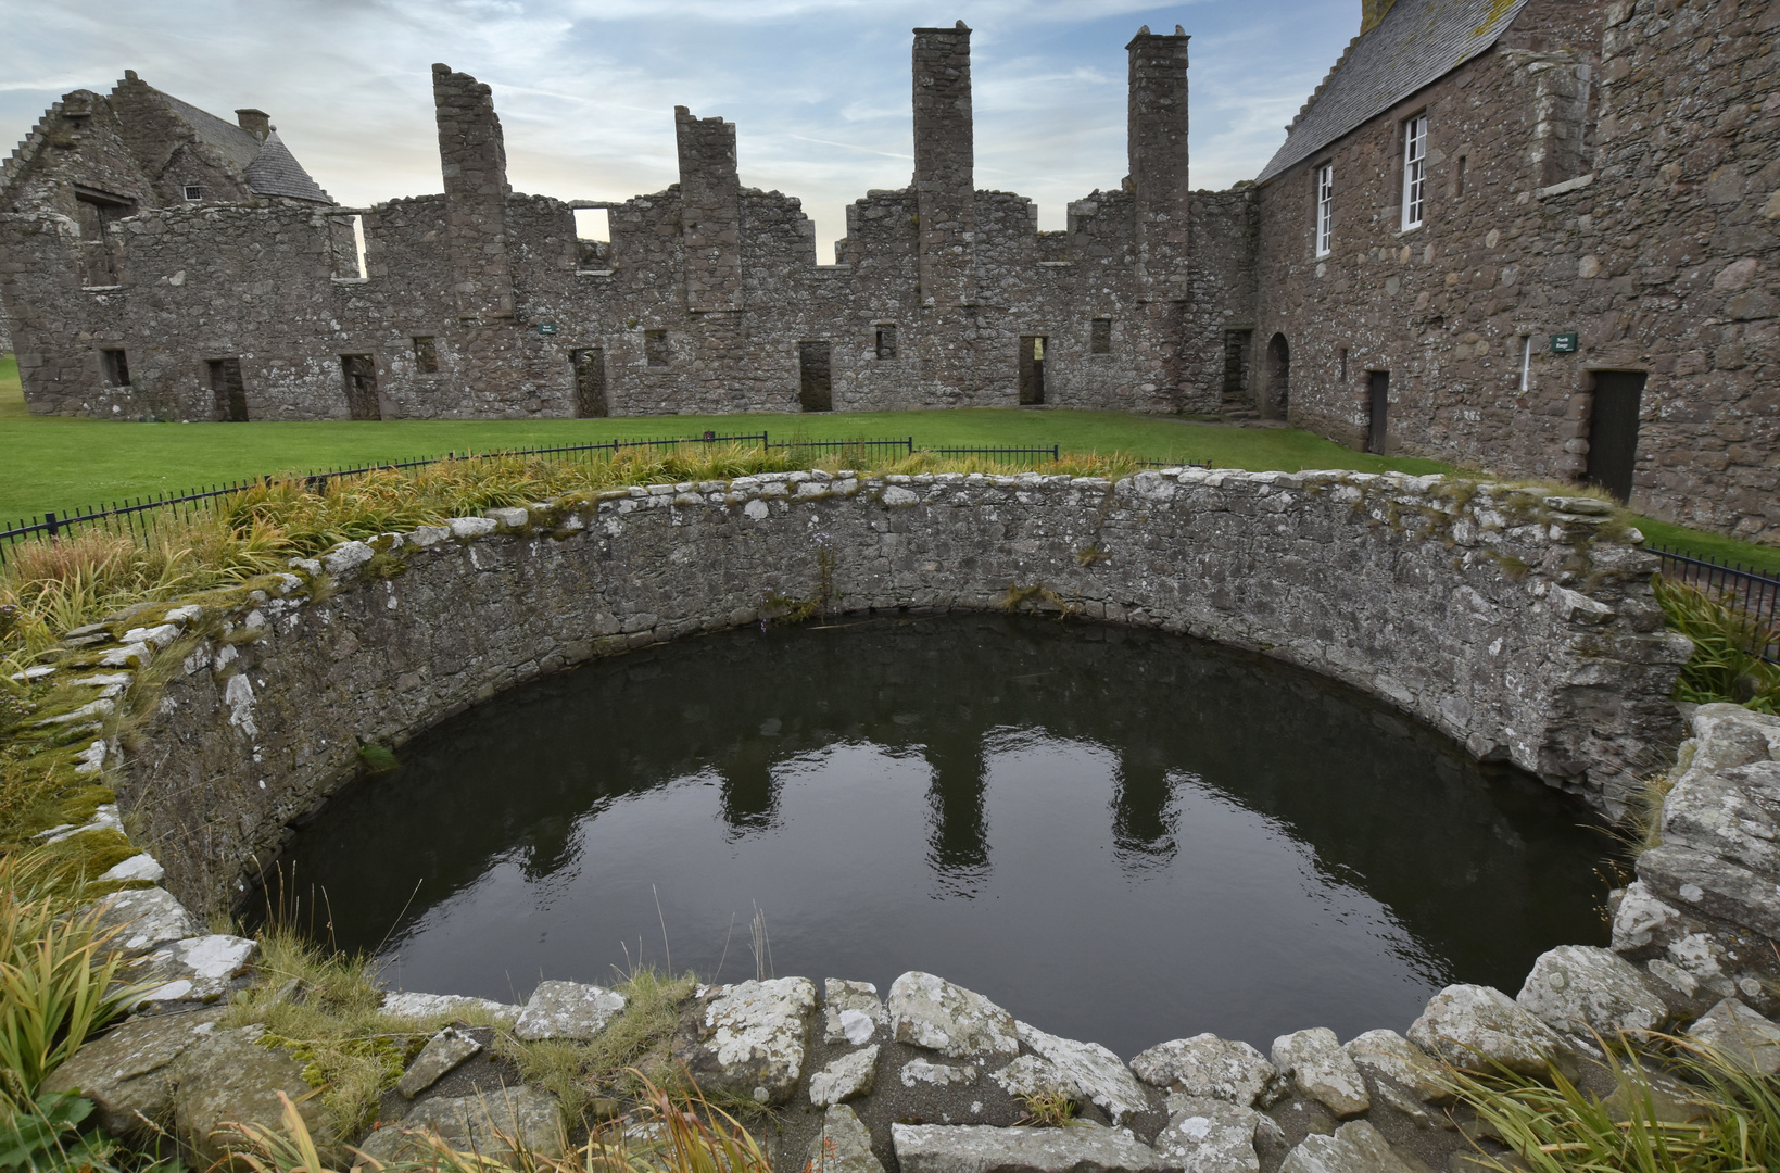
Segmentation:
<svg viewBox="0 0 1780 1173">
<path fill-rule="evenodd" d="M 1123 1129 L 890 1125 L 902 1173 L 1162 1173 L 1162 1153 Z"/>
</svg>

